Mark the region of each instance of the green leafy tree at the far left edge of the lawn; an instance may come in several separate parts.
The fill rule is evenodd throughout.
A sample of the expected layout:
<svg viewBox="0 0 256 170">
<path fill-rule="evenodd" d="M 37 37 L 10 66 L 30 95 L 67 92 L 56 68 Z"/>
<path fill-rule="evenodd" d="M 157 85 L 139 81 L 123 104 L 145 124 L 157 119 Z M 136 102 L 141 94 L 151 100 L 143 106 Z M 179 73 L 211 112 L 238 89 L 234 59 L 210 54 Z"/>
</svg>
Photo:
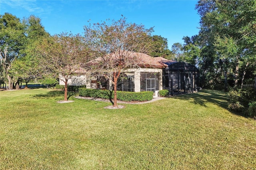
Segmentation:
<svg viewBox="0 0 256 170">
<path fill-rule="evenodd" d="M 18 76 L 10 75 L 13 62 L 22 57 L 21 50 L 24 49 L 26 40 L 24 24 L 12 14 L 5 13 L 0 16 L 0 63 L 3 75 L 8 81 L 8 88 L 13 89 L 14 81 Z"/>
</svg>

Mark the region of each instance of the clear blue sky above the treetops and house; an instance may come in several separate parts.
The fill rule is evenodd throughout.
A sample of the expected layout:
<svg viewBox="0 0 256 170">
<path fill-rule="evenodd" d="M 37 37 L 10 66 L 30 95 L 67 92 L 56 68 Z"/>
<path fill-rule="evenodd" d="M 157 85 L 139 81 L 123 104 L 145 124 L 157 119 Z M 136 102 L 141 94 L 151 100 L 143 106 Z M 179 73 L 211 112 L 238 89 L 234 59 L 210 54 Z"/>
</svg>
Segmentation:
<svg viewBox="0 0 256 170">
<path fill-rule="evenodd" d="M 83 26 L 121 15 L 130 23 L 154 27 L 153 35 L 173 43 L 183 36 L 198 34 L 200 16 L 196 0 L 0 0 L 0 14 L 11 13 L 22 19 L 35 15 L 51 35 L 61 32 L 83 33 Z"/>
</svg>

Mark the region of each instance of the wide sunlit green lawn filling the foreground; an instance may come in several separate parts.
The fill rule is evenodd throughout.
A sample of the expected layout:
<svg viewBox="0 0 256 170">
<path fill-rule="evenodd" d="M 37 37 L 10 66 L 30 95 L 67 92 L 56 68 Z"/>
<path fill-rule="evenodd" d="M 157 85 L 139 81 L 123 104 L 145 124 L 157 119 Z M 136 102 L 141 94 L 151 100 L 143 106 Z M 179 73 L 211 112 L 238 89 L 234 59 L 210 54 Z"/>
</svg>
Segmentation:
<svg viewBox="0 0 256 170">
<path fill-rule="evenodd" d="M 256 121 L 219 91 L 104 109 L 63 91 L 0 91 L 0 169 L 256 169 Z"/>
</svg>

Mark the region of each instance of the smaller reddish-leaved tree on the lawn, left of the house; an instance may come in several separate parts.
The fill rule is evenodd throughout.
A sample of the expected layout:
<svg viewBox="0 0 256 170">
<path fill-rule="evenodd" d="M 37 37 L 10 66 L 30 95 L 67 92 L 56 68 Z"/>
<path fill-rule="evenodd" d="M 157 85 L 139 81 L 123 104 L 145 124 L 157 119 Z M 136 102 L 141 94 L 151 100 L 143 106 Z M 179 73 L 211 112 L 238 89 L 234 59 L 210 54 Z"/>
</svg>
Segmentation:
<svg viewBox="0 0 256 170">
<path fill-rule="evenodd" d="M 82 63 L 91 59 L 82 36 L 62 33 L 44 38 L 38 42 L 36 53 L 41 74 L 65 82 L 64 101 L 68 101 L 68 80 L 79 73 Z"/>
</svg>

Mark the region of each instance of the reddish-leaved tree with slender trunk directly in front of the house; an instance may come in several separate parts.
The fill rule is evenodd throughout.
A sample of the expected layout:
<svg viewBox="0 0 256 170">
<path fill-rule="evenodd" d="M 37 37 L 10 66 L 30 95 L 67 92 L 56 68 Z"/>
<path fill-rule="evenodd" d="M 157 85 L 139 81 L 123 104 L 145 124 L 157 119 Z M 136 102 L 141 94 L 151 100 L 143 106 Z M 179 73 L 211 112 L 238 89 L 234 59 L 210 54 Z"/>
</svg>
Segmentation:
<svg viewBox="0 0 256 170">
<path fill-rule="evenodd" d="M 125 69 L 138 67 L 139 56 L 132 52 L 152 52 L 150 34 L 153 28 L 146 29 L 144 25 L 127 23 L 126 18 L 120 20 L 84 26 L 86 43 L 93 51 L 98 51 L 99 59 L 93 64 L 92 72 L 103 75 L 112 82 L 114 87 L 113 107 L 117 107 L 118 77 Z M 90 63 L 92 64 L 92 63 Z M 95 75 L 95 74 L 94 74 Z"/>
</svg>

